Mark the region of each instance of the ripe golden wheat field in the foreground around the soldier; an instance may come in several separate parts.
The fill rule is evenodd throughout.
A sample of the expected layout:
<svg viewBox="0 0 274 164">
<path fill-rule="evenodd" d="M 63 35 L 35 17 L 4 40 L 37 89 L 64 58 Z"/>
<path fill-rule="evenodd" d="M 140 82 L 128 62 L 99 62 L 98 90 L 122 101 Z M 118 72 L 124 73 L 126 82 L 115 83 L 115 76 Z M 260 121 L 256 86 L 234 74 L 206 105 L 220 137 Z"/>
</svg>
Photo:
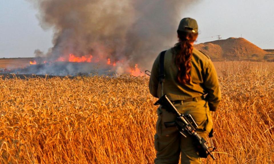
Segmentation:
<svg viewBox="0 0 274 164">
<path fill-rule="evenodd" d="M 219 77 L 216 161 L 274 163 L 274 72 Z M 1 163 L 153 163 L 148 77 L 0 79 Z"/>
</svg>

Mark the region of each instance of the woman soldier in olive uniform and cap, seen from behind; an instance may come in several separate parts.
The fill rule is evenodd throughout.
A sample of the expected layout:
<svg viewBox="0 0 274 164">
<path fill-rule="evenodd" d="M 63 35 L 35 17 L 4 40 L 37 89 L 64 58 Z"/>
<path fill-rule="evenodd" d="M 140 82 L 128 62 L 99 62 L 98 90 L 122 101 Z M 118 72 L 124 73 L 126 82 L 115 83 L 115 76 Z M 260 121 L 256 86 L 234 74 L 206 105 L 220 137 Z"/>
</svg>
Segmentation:
<svg viewBox="0 0 274 164">
<path fill-rule="evenodd" d="M 213 126 L 211 111 L 217 110 L 221 101 L 217 74 L 209 57 L 193 47 L 198 37 L 196 20 L 182 19 L 177 33 L 179 43 L 165 52 L 164 83 L 159 83 L 158 77 L 160 55 L 153 64 L 150 93 L 157 98 L 166 94 L 180 113 L 194 118 L 199 127 L 197 132 L 206 138 Z M 162 106 L 157 114 L 155 163 L 178 163 L 180 154 L 181 163 L 202 163 L 191 137 L 185 138 L 176 127 L 164 126 L 164 122 L 175 121 L 175 114 Z"/>
</svg>

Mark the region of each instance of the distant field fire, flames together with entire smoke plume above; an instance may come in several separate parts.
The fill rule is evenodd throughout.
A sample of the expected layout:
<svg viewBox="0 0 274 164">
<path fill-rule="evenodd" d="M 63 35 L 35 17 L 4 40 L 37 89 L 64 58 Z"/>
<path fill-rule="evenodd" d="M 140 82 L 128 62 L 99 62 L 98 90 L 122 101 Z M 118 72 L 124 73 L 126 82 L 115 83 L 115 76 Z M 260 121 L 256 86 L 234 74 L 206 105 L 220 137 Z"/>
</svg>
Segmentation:
<svg viewBox="0 0 274 164">
<path fill-rule="evenodd" d="M 144 75 L 160 51 L 176 40 L 181 11 L 190 1 L 27 0 L 53 47 L 34 51 L 30 66 L 10 73 L 38 75 Z M 37 47 L 39 48 L 39 47 Z"/>
</svg>

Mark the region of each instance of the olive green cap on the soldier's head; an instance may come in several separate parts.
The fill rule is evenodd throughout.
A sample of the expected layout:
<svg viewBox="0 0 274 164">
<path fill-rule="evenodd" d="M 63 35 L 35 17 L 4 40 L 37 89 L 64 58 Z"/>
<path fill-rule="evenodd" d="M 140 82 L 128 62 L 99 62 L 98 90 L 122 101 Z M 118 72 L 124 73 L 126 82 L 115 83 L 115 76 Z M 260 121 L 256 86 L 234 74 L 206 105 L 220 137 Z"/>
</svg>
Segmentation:
<svg viewBox="0 0 274 164">
<path fill-rule="evenodd" d="M 190 33 L 198 33 L 198 24 L 195 19 L 192 18 L 184 18 L 181 20 L 178 31 L 190 32 Z"/>
</svg>

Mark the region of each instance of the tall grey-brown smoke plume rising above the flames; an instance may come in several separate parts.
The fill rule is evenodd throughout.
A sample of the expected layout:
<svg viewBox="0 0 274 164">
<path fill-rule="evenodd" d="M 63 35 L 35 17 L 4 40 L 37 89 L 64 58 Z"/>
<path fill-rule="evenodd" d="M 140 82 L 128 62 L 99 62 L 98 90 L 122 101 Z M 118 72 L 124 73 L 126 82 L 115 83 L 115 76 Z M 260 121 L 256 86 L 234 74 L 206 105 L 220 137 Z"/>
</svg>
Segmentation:
<svg viewBox="0 0 274 164">
<path fill-rule="evenodd" d="M 154 58 L 176 39 L 182 0 L 28 0 L 39 9 L 44 29 L 53 28 L 53 48 L 47 57 L 92 55 L 104 64 L 124 61 L 150 69 Z M 43 54 L 37 51 L 39 56 Z M 102 65 L 101 64 L 101 65 Z M 121 72 L 122 73 L 122 72 Z"/>
</svg>

